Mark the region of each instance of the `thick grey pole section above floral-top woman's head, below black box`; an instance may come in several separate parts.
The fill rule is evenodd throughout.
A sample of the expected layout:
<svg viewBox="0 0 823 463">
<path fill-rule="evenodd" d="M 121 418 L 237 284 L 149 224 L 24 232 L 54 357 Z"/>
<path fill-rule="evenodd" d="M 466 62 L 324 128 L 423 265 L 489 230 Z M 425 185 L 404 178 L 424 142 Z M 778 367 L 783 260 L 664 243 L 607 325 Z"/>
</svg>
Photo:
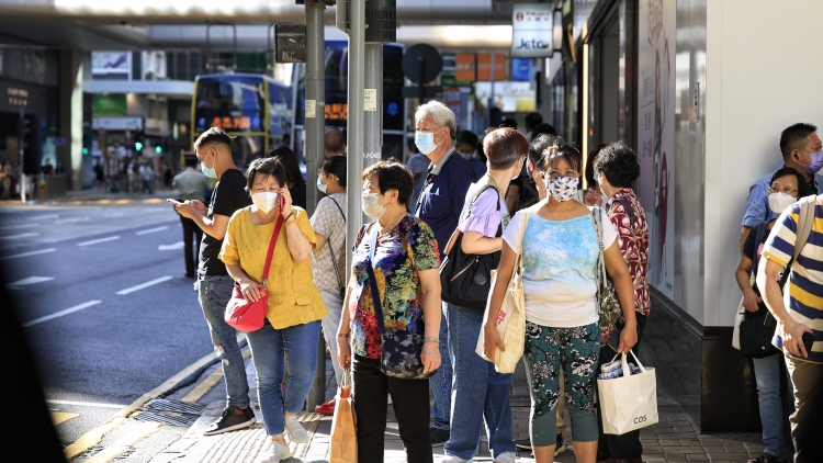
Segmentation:
<svg viewBox="0 0 823 463">
<path fill-rule="evenodd" d="M 380 162 L 383 158 L 383 44 L 365 45 L 363 77 L 365 88 L 375 91 L 374 111 L 367 108 L 363 113 L 363 167 Z"/>
</svg>

